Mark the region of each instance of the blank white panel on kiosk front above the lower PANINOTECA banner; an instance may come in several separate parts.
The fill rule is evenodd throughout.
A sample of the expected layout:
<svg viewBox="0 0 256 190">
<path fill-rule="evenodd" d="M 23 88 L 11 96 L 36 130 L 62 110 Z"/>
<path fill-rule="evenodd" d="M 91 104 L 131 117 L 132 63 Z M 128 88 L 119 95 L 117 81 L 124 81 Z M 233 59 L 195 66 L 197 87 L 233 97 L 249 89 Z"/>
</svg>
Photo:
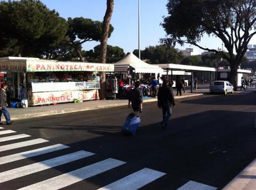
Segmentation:
<svg viewBox="0 0 256 190">
<path fill-rule="evenodd" d="M 31 83 L 32 92 L 51 92 L 65 90 L 93 90 L 100 89 L 99 81 L 81 81 L 81 82 L 53 82 L 53 83 Z"/>
</svg>

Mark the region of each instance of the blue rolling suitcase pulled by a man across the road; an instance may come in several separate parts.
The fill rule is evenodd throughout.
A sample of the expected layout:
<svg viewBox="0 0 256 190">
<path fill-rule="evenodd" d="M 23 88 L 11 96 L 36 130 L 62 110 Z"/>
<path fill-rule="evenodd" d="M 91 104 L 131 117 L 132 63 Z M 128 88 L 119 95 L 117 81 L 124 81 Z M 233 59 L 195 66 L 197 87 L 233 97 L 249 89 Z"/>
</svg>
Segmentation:
<svg viewBox="0 0 256 190">
<path fill-rule="evenodd" d="M 124 126 L 122 126 L 122 132 L 124 135 L 135 135 L 140 125 L 140 113 L 132 113 L 127 116 Z"/>
</svg>

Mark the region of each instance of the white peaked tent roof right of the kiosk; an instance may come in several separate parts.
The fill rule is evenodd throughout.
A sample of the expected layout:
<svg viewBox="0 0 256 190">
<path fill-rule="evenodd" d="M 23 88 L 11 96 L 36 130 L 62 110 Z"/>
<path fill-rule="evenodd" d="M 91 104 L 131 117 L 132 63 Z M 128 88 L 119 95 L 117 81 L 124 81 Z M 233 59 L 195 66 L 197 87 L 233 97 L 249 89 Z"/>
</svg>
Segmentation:
<svg viewBox="0 0 256 190">
<path fill-rule="evenodd" d="M 162 73 L 163 69 L 158 65 L 147 64 L 137 58 L 134 54 L 129 53 L 124 59 L 115 63 L 115 72 L 127 72 L 132 67 L 135 73 Z"/>
</svg>

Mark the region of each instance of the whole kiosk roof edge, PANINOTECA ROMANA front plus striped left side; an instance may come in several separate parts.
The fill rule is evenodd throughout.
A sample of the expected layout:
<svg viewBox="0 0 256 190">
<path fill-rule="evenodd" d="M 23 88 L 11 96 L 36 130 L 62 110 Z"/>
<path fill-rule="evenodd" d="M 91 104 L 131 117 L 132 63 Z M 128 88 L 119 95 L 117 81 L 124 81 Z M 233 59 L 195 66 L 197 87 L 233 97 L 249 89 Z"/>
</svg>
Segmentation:
<svg viewBox="0 0 256 190">
<path fill-rule="evenodd" d="M 22 72 L 44 71 L 114 71 L 114 64 L 70 62 L 38 58 L 0 58 L 0 70 Z"/>
</svg>

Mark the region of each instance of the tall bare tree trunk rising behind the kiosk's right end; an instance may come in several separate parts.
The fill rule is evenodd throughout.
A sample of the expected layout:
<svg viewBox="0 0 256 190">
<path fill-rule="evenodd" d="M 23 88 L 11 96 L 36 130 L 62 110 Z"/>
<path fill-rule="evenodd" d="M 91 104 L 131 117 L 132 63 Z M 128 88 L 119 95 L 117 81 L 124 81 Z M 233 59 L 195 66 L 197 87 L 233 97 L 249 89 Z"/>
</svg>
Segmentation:
<svg viewBox="0 0 256 190">
<path fill-rule="evenodd" d="M 101 51 L 100 51 L 100 62 L 106 63 L 107 56 L 107 38 L 109 37 L 109 26 L 110 20 L 112 16 L 112 12 L 114 10 L 114 0 L 107 0 L 107 10 L 103 20 L 103 28 L 101 34 Z M 106 73 L 102 72 L 100 79 L 100 99 L 106 99 Z"/>
</svg>

